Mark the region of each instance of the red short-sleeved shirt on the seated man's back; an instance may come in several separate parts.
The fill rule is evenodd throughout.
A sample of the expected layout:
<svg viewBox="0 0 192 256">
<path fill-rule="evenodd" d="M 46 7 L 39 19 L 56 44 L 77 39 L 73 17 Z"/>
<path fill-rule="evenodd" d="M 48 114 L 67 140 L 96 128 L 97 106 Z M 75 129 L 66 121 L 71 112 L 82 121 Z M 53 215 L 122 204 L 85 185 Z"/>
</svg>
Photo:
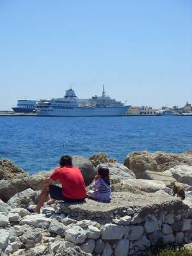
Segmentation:
<svg viewBox="0 0 192 256">
<path fill-rule="evenodd" d="M 86 187 L 81 171 L 76 166 L 63 166 L 52 173 L 52 180 L 60 180 L 62 194 L 67 198 L 83 199 L 86 197 Z"/>
</svg>

